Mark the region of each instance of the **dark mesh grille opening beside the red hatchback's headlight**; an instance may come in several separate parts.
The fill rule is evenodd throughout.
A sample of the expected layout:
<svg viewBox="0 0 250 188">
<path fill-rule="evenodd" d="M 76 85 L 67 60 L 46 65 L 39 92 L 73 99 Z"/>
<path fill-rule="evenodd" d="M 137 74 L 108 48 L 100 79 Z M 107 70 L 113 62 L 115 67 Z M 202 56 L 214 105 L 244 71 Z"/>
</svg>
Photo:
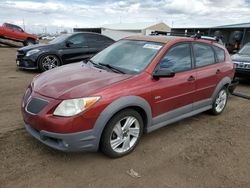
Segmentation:
<svg viewBox="0 0 250 188">
<path fill-rule="evenodd" d="M 26 106 L 26 111 L 31 114 L 38 114 L 48 103 L 49 102 L 44 99 L 32 98 Z"/>
</svg>

